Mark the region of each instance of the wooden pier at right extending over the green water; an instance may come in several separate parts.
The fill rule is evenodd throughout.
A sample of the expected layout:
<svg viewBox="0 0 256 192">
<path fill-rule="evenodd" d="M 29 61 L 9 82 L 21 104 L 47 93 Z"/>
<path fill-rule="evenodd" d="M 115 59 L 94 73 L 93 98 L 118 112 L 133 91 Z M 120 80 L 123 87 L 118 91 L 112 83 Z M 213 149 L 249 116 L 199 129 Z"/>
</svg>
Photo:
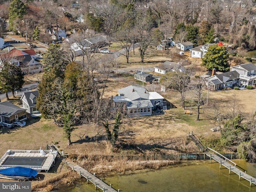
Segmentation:
<svg viewBox="0 0 256 192">
<path fill-rule="evenodd" d="M 252 184 L 256 185 L 256 178 L 246 174 L 246 172 L 236 168 L 236 164 L 232 165 L 229 162 L 227 162 L 227 159 L 223 159 L 221 157 L 219 157 L 218 155 L 212 153 L 212 152 L 204 152 L 207 156 L 210 157 L 210 161 L 211 159 L 215 160 L 216 162 L 220 163 L 220 168 L 221 166 L 224 166 L 226 168 L 229 169 L 229 174 L 230 172 L 234 172 L 235 174 L 237 174 L 239 176 L 239 180 L 240 178 L 244 178 L 245 180 L 250 182 L 250 186 Z"/>
</svg>

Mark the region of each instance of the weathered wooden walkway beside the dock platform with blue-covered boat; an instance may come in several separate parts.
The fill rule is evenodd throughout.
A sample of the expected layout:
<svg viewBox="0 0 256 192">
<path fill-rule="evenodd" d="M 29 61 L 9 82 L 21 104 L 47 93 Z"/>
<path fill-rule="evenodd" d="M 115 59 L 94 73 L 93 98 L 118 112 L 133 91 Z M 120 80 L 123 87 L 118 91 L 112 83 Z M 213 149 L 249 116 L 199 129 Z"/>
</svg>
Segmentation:
<svg viewBox="0 0 256 192">
<path fill-rule="evenodd" d="M 73 162 L 66 161 L 66 164 L 70 166 L 74 171 L 78 172 L 80 176 L 83 176 L 86 178 L 87 183 L 88 181 L 92 182 L 95 185 L 95 189 L 100 188 L 102 191 L 106 192 L 117 192 L 114 190 L 111 186 L 103 182 L 101 179 L 98 177 L 94 176 L 90 172 L 86 171 L 84 168 L 80 167 L 78 164 L 75 164 Z M 118 190 L 119 192 L 119 190 Z"/>
</svg>

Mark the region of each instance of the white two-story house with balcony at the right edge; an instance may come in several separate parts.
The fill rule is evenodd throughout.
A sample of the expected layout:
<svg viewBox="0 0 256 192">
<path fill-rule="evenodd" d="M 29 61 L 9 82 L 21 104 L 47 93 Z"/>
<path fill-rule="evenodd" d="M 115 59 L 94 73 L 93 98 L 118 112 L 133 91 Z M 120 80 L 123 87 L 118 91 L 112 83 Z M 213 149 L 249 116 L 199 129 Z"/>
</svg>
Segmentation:
<svg viewBox="0 0 256 192">
<path fill-rule="evenodd" d="M 253 63 L 232 66 L 230 67 L 230 71 L 237 71 L 240 74 L 240 85 L 248 86 L 256 84 L 256 66 Z"/>
</svg>

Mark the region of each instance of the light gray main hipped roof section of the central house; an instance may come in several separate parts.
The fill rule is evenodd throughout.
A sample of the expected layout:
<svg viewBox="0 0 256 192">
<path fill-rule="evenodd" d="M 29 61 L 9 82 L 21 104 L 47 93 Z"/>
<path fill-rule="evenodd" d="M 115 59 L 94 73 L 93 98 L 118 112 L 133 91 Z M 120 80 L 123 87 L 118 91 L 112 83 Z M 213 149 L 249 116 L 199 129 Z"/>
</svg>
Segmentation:
<svg viewBox="0 0 256 192">
<path fill-rule="evenodd" d="M 145 93 L 146 92 L 146 93 Z M 149 93 L 145 88 L 138 85 L 130 85 L 118 90 L 120 96 L 124 96 L 130 100 L 147 100 Z"/>
</svg>

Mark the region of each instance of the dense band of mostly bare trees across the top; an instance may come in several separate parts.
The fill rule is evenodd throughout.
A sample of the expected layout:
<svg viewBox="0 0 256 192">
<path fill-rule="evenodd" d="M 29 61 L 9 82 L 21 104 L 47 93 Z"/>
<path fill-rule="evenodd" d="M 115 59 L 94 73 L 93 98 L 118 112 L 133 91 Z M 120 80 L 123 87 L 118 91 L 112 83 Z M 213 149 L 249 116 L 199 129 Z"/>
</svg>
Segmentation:
<svg viewBox="0 0 256 192">
<path fill-rule="evenodd" d="M 70 33 L 73 29 L 84 34 L 88 30 L 103 33 L 109 44 L 128 39 L 128 44 L 146 42 L 140 47 L 142 62 L 148 43 L 157 45 L 170 36 L 191 41 L 194 46 L 213 42 L 218 37 L 233 44 L 236 52 L 256 48 L 252 19 L 255 0 L 86 0 L 80 1 L 76 8 L 72 4 L 72 0 L 11 0 L 0 4 L 0 16 L 9 19 L 8 30 L 22 36 L 26 33 L 34 40 L 47 41 L 45 30 L 56 26 Z M 84 22 L 78 23 L 76 19 L 80 15 Z M 54 35 L 58 36 L 58 30 Z"/>
</svg>

